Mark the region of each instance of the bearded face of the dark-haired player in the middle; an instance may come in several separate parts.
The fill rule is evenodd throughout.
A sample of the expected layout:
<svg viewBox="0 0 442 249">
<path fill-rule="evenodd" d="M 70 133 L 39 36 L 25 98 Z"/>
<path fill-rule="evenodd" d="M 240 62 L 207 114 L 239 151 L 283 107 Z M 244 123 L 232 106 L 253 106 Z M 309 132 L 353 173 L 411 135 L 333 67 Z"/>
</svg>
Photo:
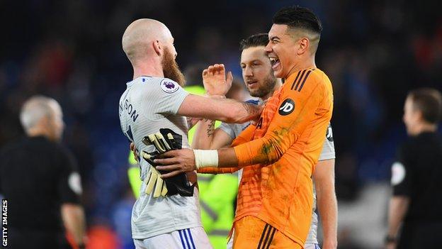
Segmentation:
<svg viewBox="0 0 442 249">
<path fill-rule="evenodd" d="M 251 96 L 264 98 L 276 84 L 264 46 L 249 47 L 241 54 L 242 78 Z"/>
</svg>

